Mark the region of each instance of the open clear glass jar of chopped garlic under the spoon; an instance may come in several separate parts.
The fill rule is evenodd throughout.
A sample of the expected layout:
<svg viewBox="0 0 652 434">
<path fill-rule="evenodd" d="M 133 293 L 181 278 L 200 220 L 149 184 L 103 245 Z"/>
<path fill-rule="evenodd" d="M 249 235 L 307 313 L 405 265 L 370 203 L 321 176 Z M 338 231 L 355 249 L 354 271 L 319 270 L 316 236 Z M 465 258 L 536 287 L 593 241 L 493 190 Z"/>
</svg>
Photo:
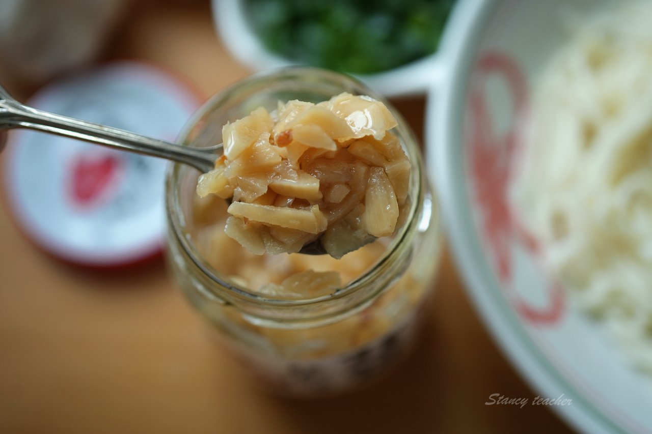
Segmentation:
<svg viewBox="0 0 652 434">
<path fill-rule="evenodd" d="M 383 101 L 398 121 L 393 132 L 412 170 L 408 210 L 392 239 L 376 240 L 340 260 L 298 253 L 255 257 L 222 235 L 226 203 L 198 198 L 195 169 L 175 164 L 166 181 L 173 276 L 232 353 L 280 394 L 318 396 L 354 388 L 395 364 L 415 341 L 441 248 L 436 201 L 417 141 L 383 98 L 359 81 L 316 68 L 286 68 L 240 81 L 211 98 L 180 139 L 186 146 L 215 145 L 224 124 L 259 106 L 319 102 L 342 92 Z M 266 283 L 297 261 L 334 268 L 349 282 L 330 295 L 304 300 L 266 298 L 243 282 Z"/>
</svg>

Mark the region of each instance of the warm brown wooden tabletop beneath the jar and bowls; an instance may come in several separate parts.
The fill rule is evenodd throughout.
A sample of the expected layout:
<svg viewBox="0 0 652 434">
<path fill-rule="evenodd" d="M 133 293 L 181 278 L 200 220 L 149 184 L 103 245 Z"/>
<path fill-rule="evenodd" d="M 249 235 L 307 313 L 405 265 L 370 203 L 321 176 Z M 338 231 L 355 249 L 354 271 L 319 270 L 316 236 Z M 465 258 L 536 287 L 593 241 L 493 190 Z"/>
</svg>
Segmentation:
<svg viewBox="0 0 652 434">
<path fill-rule="evenodd" d="M 206 96 L 248 74 L 218 42 L 205 1 L 140 1 L 117 35 L 106 58 L 166 65 Z M 21 98 L 31 91 L 5 84 Z M 423 100 L 395 102 L 421 135 Z M 488 336 L 449 255 L 406 364 L 348 396 L 291 401 L 258 392 L 220 353 L 162 261 L 112 273 L 64 265 L 21 235 L 0 187 L 2 433 L 569 430 L 544 407 L 484 405 L 494 393 L 537 392 Z"/>
</svg>

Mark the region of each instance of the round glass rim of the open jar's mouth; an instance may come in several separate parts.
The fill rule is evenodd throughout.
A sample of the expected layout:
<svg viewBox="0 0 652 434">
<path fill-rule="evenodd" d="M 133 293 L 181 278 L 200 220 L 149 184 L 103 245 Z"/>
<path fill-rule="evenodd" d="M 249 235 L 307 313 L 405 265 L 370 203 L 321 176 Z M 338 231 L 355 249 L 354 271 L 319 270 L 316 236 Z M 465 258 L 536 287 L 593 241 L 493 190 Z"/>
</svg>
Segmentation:
<svg viewBox="0 0 652 434">
<path fill-rule="evenodd" d="M 188 167 L 183 166 L 183 164 L 171 163 L 170 166 L 168 166 L 168 173 L 166 175 L 166 213 L 168 231 L 170 232 L 170 236 L 175 239 L 175 242 L 178 242 L 179 246 L 181 246 L 183 253 L 185 253 L 185 255 L 190 259 L 192 265 L 196 267 L 201 275 L 207 278 L 209 283 L 213 283 L 211 285 L 204 285 L 204 289 L 208 291 L 208 293 L 205 293 L 204 295 L 213 298 L 218 302 L 237 304 L 237 302 L 240 301 L 253 302 L 258 306 L 296 308 L 300 306 L 323 304 L 329 300 L 346 297 L 353 293 L 357 293 L 357 291 L 363 288 L 366 283 L 372 282 L 378 278 L 383 270 L 387 269 L 396 259 L 408 254 L 409 240 L 414 237 L 415 232 L 419 229 L 418 216 L 421 214 L 423 207 L 424 186 L 426 181 L 423 174 L 421 151 L 417 146 L 417 140 L 405 119 L 389 102 L 387 102 L 387 100 L 385 100 L 385 98 L 376 94 L 357 79 L 345 74 L 304 66 L 292 66 L 254 74 L 209 98 L 209 100 L 201 106 L 190 121 L 188 121 L 184 130 L 179 135 L 177 142 L 185 146 L 202 145 L 201 143 L 195 143 L 192 140 L 192 132 L 194 128 L 197 128 L 200 125 L 205 125 L 206 119 L 209 117 L 211 110 L 221 106 L 227 106 L 230 102 L 234 102 L 240 92 L 256 88 L 263 89 L 265 85 L 274 85 L 275 82 L 291 82 L 293 80 L 302 81 L 304 84 L 306 84 L 306 81 L 308 81 L 308 83 L 314 82 L 319 84 L 329 83 L 333 86 L 334 91 L 339 89 L 337 93 L 348 91 L 353 94 L 366 94 L 383 102 L 383 104 L 386 104 L 392 111 L 394 117 L 396 117 L 396 121 L 398 121 L 398 126 L 393 128 L 392 131 L 399 137 L 401 143 L 404 145 L 404 150 L 412 164 L 409 189 L 411 202 L 409 203 L 406 220 L 376 263 L 365 270 L 361 276 L 346 283 L 346 285 L 337 289 L 334 293 L 323 295 L 321 297 L 291 300 L 265 297 L 250 289 L 239 287 L 228 280 L 221 278 L 220 273 L 215 270 L 214 267 L 209 265 L 196 246 L 194 246 L 190 233 L 186 229 L 187 225 L 183 214 L 183 205 L 181 203 L 182 195 L 180 194 L 180 189 L 177 188 L 181 182 L 182 171 L 187 170 Z M 291 89 L 288 89 L 288 92 L 291 93 Z M 221 131 L 222 125 L 219 125 L 218 128 Z M 206 143 L 205 145 L 210 144 Z M 216 291 L 216 289 L 220 290 Z"/>
</svg>

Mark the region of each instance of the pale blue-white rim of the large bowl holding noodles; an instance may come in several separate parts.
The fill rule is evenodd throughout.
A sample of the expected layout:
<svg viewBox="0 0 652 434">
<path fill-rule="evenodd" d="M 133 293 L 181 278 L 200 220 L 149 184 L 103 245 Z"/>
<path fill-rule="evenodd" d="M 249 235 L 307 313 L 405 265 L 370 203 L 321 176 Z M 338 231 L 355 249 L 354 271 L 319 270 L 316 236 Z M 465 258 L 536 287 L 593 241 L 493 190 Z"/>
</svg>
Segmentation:
<svg viewBox="0 0 652 434">
<path fill-rule="evenodd" d="M 531 339 L 514 310 L 501 295 L 500 285 L 484 256 L 479 234 L 473 223 L 473 211 L 465 175 L 462 143 L 462 109 L 471 75 L 471 61 L 479 46 L 482 31 L 488 25 L 498 0 L 459 0 L 445 29 L 440 53 L 447 65 L 437 89 L 430 89 L 426 113 L 435 121 L 426 122 L 428 171 L 434 172 L 441 201 L 443 223 L 456 263 L 471 302 L 482 317 L 494 340 L 529 386 L 557 397 L 573 398 L 573 405 L 555 405 L 554 411 L 578 431 L 613 433 L 623 431 L 550 362 Z M 490 290 L 488 290 L 490 289 Z"/>
</svg>

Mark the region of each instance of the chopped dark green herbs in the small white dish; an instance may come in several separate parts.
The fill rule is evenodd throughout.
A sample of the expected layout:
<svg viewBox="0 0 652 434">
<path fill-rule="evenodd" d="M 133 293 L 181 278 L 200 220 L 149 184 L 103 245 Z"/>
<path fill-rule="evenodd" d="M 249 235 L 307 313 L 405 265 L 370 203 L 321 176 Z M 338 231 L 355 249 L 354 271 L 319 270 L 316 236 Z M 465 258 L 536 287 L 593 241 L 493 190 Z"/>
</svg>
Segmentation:
<svg viewBox="0 0 652 434">
<path fill-rule="evenodd" d="M 372 74 L 434 53 L 454 0 L 246 0 L 252 29 L 288 59 Z"/>
</svg>

